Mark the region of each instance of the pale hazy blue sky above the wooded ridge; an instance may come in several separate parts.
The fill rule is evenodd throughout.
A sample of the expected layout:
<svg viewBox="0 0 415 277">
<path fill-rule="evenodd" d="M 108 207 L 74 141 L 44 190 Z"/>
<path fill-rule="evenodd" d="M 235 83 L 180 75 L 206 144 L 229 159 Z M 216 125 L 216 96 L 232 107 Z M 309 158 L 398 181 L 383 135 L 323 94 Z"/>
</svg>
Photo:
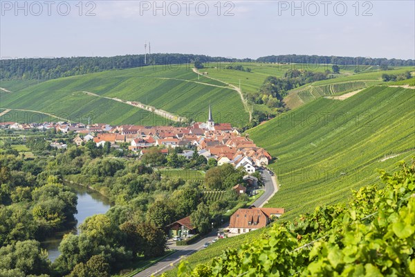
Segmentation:
<svg viewBox="0 0 415 277">
<path fill-rule="evenodd" d="M 3 1 L 0 57 L 415 59 L 415 1 Z M 147 46 L 148 51 L 148 46 Z"/>
</svg>

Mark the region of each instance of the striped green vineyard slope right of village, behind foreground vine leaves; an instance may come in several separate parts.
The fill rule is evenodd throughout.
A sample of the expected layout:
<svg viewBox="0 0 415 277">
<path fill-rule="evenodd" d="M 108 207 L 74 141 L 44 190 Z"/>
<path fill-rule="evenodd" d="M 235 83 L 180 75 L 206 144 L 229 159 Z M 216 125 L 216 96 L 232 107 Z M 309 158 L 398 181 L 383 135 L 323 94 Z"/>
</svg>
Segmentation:
<svg viewBox="0 0 415 277">
<path fill-rule="evenodd" d="M 267 206 L 285 217 L 341 202 L 415 154 L 413 89 L 371 87 L 344 101 L 319 98 L 248 133 L 277 160 L 281 188 Z"/>
</svg>

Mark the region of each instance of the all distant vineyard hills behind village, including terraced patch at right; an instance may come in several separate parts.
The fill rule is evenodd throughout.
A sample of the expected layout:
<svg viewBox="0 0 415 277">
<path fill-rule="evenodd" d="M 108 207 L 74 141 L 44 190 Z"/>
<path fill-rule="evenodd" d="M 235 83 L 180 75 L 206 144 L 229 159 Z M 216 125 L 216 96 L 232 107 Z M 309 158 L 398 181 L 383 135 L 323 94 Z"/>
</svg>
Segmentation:
<svg viewBox="0 0 415 277">
<path fill-rule="evenodd" d="M 226 69 L 241 65 L 250 72 Z M 325 71 L 328 64 L 261 64 L 257 62 L 208 63 L 201 75 L 188 64 L 145 66 L 103 71 L 54 80 L 1 80 L 1 107 L 53 114 L 73 121 L 96 123 L 167 125 L 177 120 L 206 120 L 208 102 L 216 122 L 243 127 L 250 111 L 275 114 L 266 105 L 250 104 L 246 94 L 256 93 L 270 76 L 282 77 L 288 69 Z M 293 89 L 284 99 L 294 109 L 321 96 L 338 95 L 382 82 L 385 71 L 353 73 L 354 66 L 343 66 L 335 78 Z M 388 73 L 401 73 L 410 67 Z M 237 88 L 241 82 L 241 93 Z M 133 107 L 127 103 L 140 103 Z M 130 103 L 131 104 L 131 103 Z M 105 111 L 105 112 L 103 112 Z M 152 112 L 155 111 L 155 112 Z M 21 111 L 20 111 L 21 112 Z M 16 120 L 18 121 L 18 120 Z"/>
</svg>

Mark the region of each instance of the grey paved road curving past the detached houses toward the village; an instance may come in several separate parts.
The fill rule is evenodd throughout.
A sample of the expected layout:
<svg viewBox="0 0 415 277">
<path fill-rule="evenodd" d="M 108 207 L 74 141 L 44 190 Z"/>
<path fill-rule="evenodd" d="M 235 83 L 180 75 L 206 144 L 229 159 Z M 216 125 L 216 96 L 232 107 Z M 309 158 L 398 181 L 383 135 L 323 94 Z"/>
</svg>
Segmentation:
<svg viewBox="0 0 415 277">
<path fill-rule="evenodd" d="M 261 197 L 259 197 L 257 201 L 254 202 L 254 205 L 256 207 L 264 206 L 264 204 L 268 202 L 270 197 L 273 197 L 273 195 L 275 195 L 275 193 L 277 193 L 278 191 L 275 176 L 271 176 L 268 170 L 264 170 L 262 172 L 262 177 L 264 177 L 265 193 L 261 195 Z M 223 224 L 222 228 L 226 226 L 228 226 L 228 223 Z M 205 238 L 199 240 L 199 242 L 196 242 L 192 245 L 188 245 L 186 247 L 172 247 L 174 249 L 178 249 L 178 251 L 176 253 L 173 253 L 171 256 L 168 256 L 167 258 L 160 260 L 160 262 L 157 262 L 156 265 L 153 265 L 148 269 L 139 272 L 138 274 L 134 275 L 134 277 L 149 277 L 153 274 L 154 276 L 156 276 L 158 274 L 163 273 L 163 271 L 172 269 L 172 265 L 176 265 L 176 263 L 179 262 L 181 259 L 186 258 L 187 256 L 190 256 L 192 253 L 203 249 L 203 244 L 205 244 L 205 242 L 212 243 L 212 240 L 216 237 L 217 229 L 210 232 L 208 235 L 205 236 Z"/>
</svg>

